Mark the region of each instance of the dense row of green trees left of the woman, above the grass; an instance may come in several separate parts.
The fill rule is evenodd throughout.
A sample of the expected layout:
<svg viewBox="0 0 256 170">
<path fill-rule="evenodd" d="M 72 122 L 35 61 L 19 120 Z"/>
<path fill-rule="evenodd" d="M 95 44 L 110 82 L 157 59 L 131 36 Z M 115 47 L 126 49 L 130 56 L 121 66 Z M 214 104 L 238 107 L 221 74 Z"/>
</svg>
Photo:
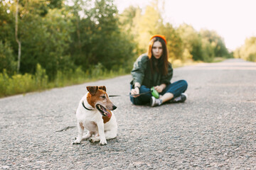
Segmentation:
<svg viewBox="0 0 256 170">
<path fill-rule="evenodd" d="M 37 63 L 46 69 L 50 81 L 58 76 L 58 72 L 74 71 L 77 67 L 86 72 L 99 62 L 107 70 L 130 68 L 135 45 L 132 38 L 119 28 L 113 1 L 73 0 L 73 3 L 73 6 L 68 6 L 63 1 L 54 0 L 20 1 L 21 74 L 35 74 Z M 13 54 L 17 54 L 13 15 L 16 4 L 14 1 L 0 4 L 0 16 L 4 19 L 0 38 L 8 41 Z M 9 68 L 6 69 L 9 72 Z"/>
</svg>

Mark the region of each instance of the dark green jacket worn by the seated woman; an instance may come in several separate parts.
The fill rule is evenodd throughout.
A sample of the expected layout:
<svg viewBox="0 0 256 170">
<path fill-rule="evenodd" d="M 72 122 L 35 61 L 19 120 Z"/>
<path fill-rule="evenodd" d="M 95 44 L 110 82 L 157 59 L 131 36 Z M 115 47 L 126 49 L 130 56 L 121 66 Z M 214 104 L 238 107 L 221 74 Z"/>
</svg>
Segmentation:
<svg viewBox="0 0 256 170">
<path fill-rule="evenodd" d="M 166 76 L 159 72 L 152 74 L 150 68 L 149 57 L 146 54 L 139 56 L 134 62 L 132 69 L 132 81 L 131 84 L 134 86 L 135 82 L 144 85 L 148 88 L 152 86 L 159 86 L 160 84 L 171 84 L 171 77 L 173 76 L 173 69 L 171 63 L 168 63 L 168 74 Z"/>
</svg>

